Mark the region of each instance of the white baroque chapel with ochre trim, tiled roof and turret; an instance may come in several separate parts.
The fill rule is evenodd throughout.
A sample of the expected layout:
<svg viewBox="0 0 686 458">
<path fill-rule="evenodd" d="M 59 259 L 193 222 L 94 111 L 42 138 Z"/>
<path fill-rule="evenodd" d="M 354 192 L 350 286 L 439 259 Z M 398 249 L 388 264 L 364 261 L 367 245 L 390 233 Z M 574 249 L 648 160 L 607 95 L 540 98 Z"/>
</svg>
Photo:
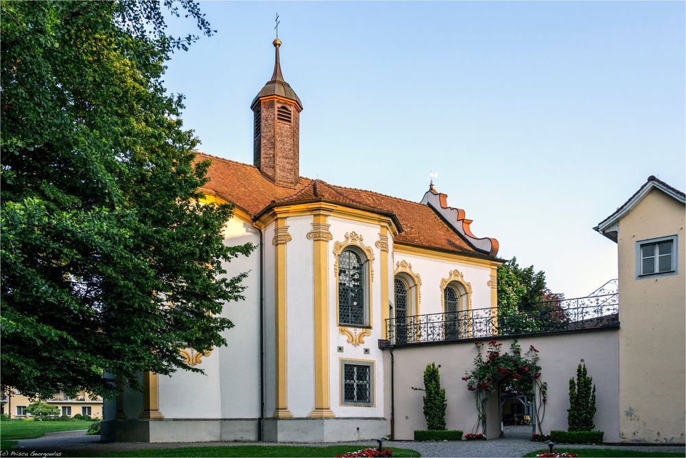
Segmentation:
<svg viewBox="0 0 686 458">
<path fill-rule="evenodd" d="M 257 247 L 225 266 L 229 277 L 250 273 L 245 301 L 222 312 L 235 324 L 228 345 L 181 350 L 204 375 L 145 373 L 144 393 L 106 402 L 106 440 L 384 437 L 393 427 L 384 347 L 415 339 L 420 315 L 451 317 L 436 328 L 450 340 L 471 335 L 464 317 L 495 313 L 498 242 L 475 236 L 433 185 L 411 202 L 300 176 L 303 104 L 273 44 L 272 78 L 250 106 L 252 165 L 198 154 L 212 161 L 206 202 L 235 205 L 226 243 Z"/>
</svg>

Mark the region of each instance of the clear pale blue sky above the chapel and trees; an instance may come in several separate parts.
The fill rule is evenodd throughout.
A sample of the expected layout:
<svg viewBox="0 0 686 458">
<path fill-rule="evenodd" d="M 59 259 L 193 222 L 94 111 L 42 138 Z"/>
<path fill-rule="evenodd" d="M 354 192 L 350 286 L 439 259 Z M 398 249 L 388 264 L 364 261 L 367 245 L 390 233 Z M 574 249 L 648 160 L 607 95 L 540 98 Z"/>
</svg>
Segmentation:
<svg viewBox="0 0 686 458">
<path fill-rule="evenodd" d="M 434 170 L 476 236 L 567 297 L 617 276 L 593 226 L 651 174 L 685 188 L 683 2 L 201 5 L 217 34 L 165 78 L 200 150 L 252 163 L 279 12 L 301 175 L 419 201 Z"/>
</svg>

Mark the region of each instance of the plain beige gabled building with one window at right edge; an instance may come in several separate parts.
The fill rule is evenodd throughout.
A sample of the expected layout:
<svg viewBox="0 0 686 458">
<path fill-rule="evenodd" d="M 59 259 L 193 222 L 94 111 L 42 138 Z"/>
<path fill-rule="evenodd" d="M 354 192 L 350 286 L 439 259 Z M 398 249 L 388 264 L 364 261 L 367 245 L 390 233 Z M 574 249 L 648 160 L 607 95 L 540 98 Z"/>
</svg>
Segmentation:
<svg viewBox="0 0 686 458">
<path fill-rule="evenodd" d="M 684 442 L 684 193 L 649 176 L 595 230 L 617 243 L 622 441 Z"/>
</svg>

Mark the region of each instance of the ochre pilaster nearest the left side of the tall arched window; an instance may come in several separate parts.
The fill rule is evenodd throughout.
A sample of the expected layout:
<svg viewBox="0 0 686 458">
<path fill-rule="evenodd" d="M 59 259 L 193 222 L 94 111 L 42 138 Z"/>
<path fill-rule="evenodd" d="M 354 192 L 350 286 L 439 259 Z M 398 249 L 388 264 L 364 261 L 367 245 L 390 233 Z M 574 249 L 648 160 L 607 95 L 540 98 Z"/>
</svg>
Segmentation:
<svg viewBox="0 0 686 458">
<path fill-rule="evenodd" d="M 317 213 L 307 238 L 314 249 L 314 410 L 310 417 L 334 417 L 329 394 L 329 217 Z"/>
</svg>

